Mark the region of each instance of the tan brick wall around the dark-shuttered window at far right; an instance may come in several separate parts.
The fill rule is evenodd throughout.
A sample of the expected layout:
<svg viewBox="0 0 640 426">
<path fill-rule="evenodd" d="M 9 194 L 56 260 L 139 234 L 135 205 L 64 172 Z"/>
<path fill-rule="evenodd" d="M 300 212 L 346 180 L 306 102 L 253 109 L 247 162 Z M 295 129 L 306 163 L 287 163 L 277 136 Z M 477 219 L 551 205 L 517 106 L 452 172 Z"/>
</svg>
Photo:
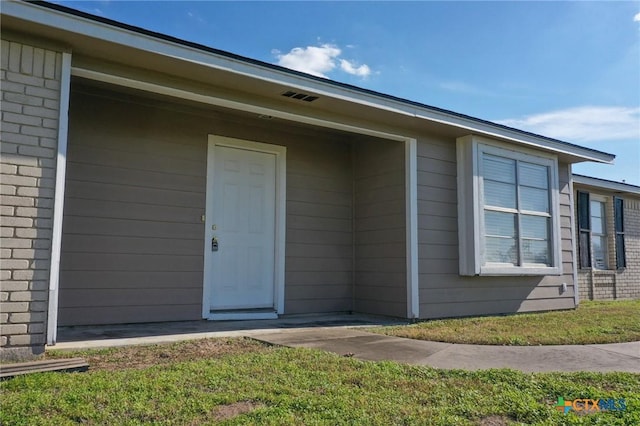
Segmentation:
<svg viewBox="0 0 640 426">
<path fill-rule="evenodd" d="M 578 265 L 578 293 L 580 299 L 616 300 L 640 298 L 640 199 L 630 195 L 620 196 L 602 188 L 583 187 L 579 184 L 574 184 L 574 189 L 588 192 L 590 195 L 604 197 L 607 222 L 609 268 L 599 270 L 588 267 L 583 268 Z M 624 200 L 624 242 L 627 266 L 623 269 L 616 268 L 614 195 Z M 577 227 L 576 222 L 576 240 Z"/>
</svg>

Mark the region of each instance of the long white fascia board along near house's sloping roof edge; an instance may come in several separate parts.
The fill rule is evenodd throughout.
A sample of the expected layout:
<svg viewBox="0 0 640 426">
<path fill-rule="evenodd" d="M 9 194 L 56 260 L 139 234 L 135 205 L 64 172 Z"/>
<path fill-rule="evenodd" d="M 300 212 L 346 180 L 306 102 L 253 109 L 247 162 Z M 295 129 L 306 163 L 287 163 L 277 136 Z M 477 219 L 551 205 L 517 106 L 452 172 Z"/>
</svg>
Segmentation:
<svg viewBox="0 0 640 426">
<path fill-rule="evenodd" d="M 579 161 L 612 163 L 615 156 L 605 152 L 573 145 L 556 139 L 502 126 L 466 115 L 428 107 L 416 102 L 394 98 L 381 93 L 358 89 L 349 85 L 323 81 L 303 73 L 287 70 L 271 64 L 262 64 L 247 58 L 225 55 L 171 41 L 132 29 L 121 28 L 88 17 L 77 16 L 57 8 L 22 1 L 3 2 L 2 14 L 39 25 L 64 29 L 83 37 L 107 40 L 114 44 L 177 58 L 201 66 L 215 68 L 232 74 L 242 75 L 265 82 L 294 87 L 301 91 L 312 91 L 320 96 L 356 103 L 388 111 L 394 114 L 414 117 L 457 127 L 479 135 L 523 144 L 532 148 L 564 154 Z"/>
</svg>

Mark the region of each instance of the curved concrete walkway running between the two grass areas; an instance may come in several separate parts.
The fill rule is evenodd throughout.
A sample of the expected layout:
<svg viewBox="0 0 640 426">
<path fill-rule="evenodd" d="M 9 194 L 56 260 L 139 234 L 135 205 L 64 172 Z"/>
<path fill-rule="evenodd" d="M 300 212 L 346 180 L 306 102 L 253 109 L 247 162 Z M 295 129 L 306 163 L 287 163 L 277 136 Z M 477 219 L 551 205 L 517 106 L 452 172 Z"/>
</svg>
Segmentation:
<svg viewBox="0 0 640 426">
<path fill-rule="evenodd" d="M 392 360 L 444 369 L 640 373 L 640 342 L 576 346 L 463 345 L 403 339 L 354 329 L 291 330 L 255 337 L 277 345 L 353 354 L 354 358 L 364 360 Z"/>
</svg>

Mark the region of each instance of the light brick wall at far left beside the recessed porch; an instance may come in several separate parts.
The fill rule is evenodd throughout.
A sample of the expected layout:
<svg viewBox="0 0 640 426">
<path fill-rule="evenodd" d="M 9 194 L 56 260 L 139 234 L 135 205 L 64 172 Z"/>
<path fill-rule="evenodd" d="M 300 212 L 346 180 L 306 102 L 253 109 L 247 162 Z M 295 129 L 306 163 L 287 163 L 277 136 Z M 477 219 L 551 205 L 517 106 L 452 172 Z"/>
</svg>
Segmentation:
<svg viewBox="0 0 640 426">
<path fill-rule="evenodd" d="M 44 350 L 62 55 L 2 40 L 0 358 Z"/>
</svg>

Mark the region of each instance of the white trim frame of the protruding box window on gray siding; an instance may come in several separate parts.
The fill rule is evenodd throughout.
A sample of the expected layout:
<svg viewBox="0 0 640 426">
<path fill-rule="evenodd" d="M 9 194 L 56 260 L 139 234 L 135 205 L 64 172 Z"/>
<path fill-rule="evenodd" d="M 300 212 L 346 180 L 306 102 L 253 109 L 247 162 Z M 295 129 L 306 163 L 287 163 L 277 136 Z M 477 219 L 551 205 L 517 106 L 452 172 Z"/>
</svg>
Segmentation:
<svg viewBox="0 0 640 426">
<path fill-rule="evenodd" d="M 457 139 L 458 243 L 460 275 L 561 275 L 560 202 L 558 159 L 553 154 L 518 148 L 476 135 Z M 512 266 L 483 264 L 484 204 L 481 154 L 489 153 L 515 160 L 543 164 L 550 168 L 551 259 L 553 266 Z"/>
</svg>

